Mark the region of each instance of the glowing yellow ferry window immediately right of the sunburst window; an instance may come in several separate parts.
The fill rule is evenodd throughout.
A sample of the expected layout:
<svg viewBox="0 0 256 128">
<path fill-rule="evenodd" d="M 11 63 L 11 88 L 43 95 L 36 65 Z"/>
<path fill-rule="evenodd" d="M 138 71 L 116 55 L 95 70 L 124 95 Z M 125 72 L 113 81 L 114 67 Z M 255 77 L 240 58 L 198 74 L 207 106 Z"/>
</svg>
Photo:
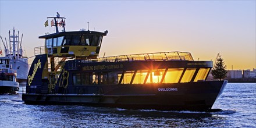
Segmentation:
<svg viewBox="0 0 256 128">
<path fill-rule="evenodd" d="M 163 83 L 178 83 L 184 68 L 168 69 L 163 79 Z"/>
</svg>

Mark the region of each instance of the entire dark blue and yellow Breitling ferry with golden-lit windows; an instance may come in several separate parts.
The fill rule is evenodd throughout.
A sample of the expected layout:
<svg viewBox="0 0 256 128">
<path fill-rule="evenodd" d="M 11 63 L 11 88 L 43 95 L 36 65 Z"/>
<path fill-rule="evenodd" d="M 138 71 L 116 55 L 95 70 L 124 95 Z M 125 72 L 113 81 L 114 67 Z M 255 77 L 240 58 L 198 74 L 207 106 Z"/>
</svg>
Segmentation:
<svg viewBox="0 0 256 128">
<path fill-rule="evenodd" d="M 68 32 L 64 17 L 48 19 L 56 33 L 39 37 L 45 46 L 35 48 L 40 54 L 29 70 L 25 104 L 211 111 L 227 84 L 206 81 L 212 61 L 194 61 L 189 52 L 98 58 L 108 31 Z"/>
</svg>

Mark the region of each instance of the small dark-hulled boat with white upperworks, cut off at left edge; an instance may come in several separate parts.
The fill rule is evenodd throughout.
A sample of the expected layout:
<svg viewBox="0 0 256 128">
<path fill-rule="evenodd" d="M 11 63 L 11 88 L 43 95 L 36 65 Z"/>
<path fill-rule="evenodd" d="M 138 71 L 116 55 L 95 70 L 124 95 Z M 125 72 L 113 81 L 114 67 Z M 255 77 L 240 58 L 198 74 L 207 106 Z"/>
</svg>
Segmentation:
<svg viewBox="0 0 256 128">
<path fill-rule="evenodd" d="M 0 94 L 16 94 L 19 83 L 16 82 L 16 72 L 10 66 L 10 58 L 0 57 Z"/>
</svg>

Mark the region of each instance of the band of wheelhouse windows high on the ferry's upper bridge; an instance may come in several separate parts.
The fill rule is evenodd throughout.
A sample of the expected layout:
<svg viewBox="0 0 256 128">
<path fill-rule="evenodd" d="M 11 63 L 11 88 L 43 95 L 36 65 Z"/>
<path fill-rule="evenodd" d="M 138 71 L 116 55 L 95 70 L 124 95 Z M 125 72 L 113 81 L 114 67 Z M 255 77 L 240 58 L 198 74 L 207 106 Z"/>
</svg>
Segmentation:
<svg viewBox="0 0 256 128">
<path fill-rule="evenodd" d="M 84 45 L 100 46 L 101 35 L 66 35 L 65 37 L 48 38 L 45 40 L 47 48 L 58 47 L 62 45 Z"/>
</svg>

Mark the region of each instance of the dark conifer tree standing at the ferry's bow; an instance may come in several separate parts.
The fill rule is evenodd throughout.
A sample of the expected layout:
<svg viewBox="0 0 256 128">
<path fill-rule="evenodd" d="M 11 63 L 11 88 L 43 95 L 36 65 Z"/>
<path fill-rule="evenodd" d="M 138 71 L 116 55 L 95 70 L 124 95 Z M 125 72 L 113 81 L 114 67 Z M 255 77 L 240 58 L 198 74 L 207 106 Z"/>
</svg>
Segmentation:
<svg viewBox="0 0 256 128">
<path fill-rule="evenodd" d="M 221 55 L 218 54 L 214 67 L 212 67 L 212 76 L 214 76 L 214 79 L 223 80 L 227 77 L 227 70 L 226 65 L 223 59 L 221 58 Z"/>
</svg>

